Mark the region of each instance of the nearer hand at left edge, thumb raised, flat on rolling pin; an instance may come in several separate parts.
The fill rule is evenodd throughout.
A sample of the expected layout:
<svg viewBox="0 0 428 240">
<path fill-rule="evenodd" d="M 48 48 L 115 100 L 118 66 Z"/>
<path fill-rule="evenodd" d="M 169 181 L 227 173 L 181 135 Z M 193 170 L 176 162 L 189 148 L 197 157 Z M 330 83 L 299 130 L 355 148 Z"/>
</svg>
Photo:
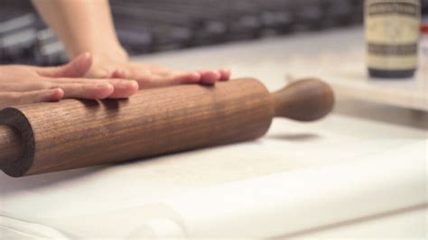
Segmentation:
<svg viewBox="0 0 428 240">
<path fill-rule="evenodd" d="M 0 65 L 0 109 L 62 98 L 126 98 L 138 91 L 134 80 L 83 78 L 91 65 L 88 53 L 60 67 Z"/>
</svg>

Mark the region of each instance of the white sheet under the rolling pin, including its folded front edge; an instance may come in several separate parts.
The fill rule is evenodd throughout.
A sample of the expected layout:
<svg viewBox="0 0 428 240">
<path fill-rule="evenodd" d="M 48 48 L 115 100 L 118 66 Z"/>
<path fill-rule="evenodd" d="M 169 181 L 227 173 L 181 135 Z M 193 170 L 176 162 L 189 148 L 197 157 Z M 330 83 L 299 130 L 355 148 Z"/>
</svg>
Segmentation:
<svg viewBox="0 0 428 240">
<path fill-rule="evenodd" d="M 110 168 L 24 179 L 0 176 L 3 230 L 49 237 L 126 237 L 151 236 L 156 228 L 162 229 L 157 236 L 164 236 L 168 227 L 174 236 L 266 237 L 423 204 L 426 143 L 417 134 L 414 139 L 386 139 L 393 126 L 347 117 L 308 126 L 282 122 L 276 121 L 270 134 L 255 143 Z M 338 127 L 336 134 L 319 130 L 339 123 L 349 129 Z M 378 132 L 352 136 L 358 125 Z M 232 217 L 241 221 L 226 222 Z M 278 217 L 287 224 L 278 226 Z M 161 226 L 154 222 L 160 220 Z M 264 227 L 241 232 L 261 220 Z"/>
</svg>

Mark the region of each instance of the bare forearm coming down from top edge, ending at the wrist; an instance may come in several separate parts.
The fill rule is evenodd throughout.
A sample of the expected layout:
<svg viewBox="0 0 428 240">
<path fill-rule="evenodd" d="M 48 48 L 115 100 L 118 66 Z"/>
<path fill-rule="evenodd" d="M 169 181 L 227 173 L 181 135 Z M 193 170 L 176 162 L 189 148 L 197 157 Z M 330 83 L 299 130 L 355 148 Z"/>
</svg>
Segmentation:
<svg viewBox="0 0 428 240">
<path fill-rule="evenodd" d="M 33 5 L 64 42 L 70 59 L 86 51 L 127 58 L 107 0 L 33 0 Z"/>
</svg>

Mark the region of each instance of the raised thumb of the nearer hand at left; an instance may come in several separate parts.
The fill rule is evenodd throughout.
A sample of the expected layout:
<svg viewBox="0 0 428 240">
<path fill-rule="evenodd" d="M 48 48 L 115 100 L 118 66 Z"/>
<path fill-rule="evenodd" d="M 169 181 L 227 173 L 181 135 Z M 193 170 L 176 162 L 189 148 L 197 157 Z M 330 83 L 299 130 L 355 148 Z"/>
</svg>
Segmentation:
<svg viewBox="0 0 428 240">
<path fill-rule="evenodd" d="M 85 52 L 66 65 L 51 68 L 39 68 L 37 73 L 48 78 L 82 78 L 92 65 L 92 56 Z"/>
</svg>

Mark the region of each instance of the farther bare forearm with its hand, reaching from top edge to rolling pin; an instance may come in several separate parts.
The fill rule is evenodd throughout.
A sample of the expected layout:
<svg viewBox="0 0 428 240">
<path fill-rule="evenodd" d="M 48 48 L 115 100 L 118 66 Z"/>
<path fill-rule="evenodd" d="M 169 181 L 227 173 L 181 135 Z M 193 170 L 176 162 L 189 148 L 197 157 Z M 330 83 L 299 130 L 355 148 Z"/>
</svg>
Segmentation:
<svg viewBox="0 0 428 240">
<path fill-rule="evenodd" d="M 132 63 L 117 40 L 107 0 L 33 0 L 54 32 L 65 43 L 70 59 L 91 53 L 89 78 L 135 79 L 140 88 L 188 83 L 215 83 L 230 78 L 229 69 L 178 71 Z"/>
</svg>

